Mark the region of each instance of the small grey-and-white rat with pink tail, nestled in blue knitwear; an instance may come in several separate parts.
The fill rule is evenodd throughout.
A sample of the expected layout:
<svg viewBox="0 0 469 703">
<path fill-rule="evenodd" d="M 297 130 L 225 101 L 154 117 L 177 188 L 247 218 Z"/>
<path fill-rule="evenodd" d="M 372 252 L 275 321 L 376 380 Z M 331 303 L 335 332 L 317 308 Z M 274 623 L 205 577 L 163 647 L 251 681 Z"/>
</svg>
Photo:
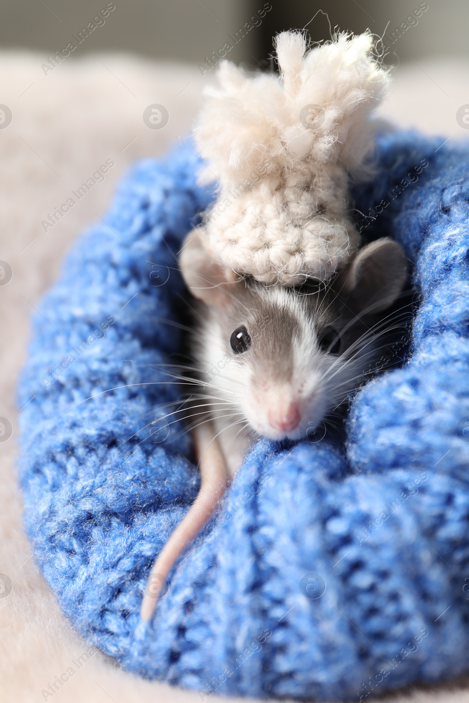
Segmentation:
<svg viewBox="0 0 469 703">
<path fill-rule="evenodd" d="M 379 320 L 407 278 L 404 251 L 390 238 L 359 249 L 327 282 L 305 278 L 295 287 L 223 268 L 198 229 L 186 238 L 179 263 L 198 300 L 191 419 L 201 484 L 155 560 L 141 606 L 144 621 L 253 442 L 307 438 L 369 378 Z"/>
</svg>

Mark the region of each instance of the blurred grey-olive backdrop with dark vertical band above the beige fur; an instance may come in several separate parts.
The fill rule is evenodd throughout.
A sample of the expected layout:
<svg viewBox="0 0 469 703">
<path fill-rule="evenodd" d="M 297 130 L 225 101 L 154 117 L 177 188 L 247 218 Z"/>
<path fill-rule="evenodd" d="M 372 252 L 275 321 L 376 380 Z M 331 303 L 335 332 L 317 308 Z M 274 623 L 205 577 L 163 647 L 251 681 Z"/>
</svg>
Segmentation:
<svg viewBox="0 0 469 703">
<path fill-rule="evenodd" d="M 236 36 L 257 13 L 256 25 L 230 53 L 236 63 L 255 65 L 256 60 L 267 58 L 271 39 L 281 30 L 307 26 L 314 41 L 326 38 L 329 26 L 321 11 L 328 13 L 332 27 L 352 32 L 369 27 L 380 36 L 387 27 L 392 36 L 423 6 L 428 10 L 420 18 L 413 15 L 409 30 L 402 32 L 399 46 L 394 47 L 399 59 L 407 61 L 409 54 L 420 58 L 468 56 L 469 52 L 469 5 L 464 0 L 272 0 L 265 4 L 264 0 L 115 0 L 113 4 L 115 11 L 92 32 L 86 46 L 80 46 L 79 53 L 130 51 L 150 58 L 203 63 L 205 56 L 224 46 L 229 35 Z M 2 1 L 0 45 L 40 50 L 49 56 L 67 46 L 72 34 L 106 6 L 105 1 L 99 4 L 96 0 Z M 264 6 L 271 9 L 260 18 Z"/>
</svg>

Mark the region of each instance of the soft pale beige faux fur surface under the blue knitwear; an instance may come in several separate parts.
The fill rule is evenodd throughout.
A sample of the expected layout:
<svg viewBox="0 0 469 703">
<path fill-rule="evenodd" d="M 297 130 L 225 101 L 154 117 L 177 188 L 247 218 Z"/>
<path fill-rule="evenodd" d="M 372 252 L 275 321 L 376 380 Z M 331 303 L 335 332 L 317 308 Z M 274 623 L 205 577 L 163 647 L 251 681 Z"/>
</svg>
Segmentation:
<svg viewBox="0 0 469 703">
<path fill-rule="evenodd" d="M 0 54 L 0 102 L 13 112 L 10 127 L 0 129 L 0 259 L 13 268 L 11 282 L 0 286 L 0 416 L 13 423 L 13 437 L 0 443 L 0 572 L 13 582 L 13 591 L 0 597 L 2 703 L 43 702 L 41 691 L 88 650 L 68 626 L 39 574 L 21 522 L 23 506 L 15 470 L 19 453 L 15 385 L 27 353 L 30 315 L 56 280 L 72 240 L 98 216 L 105 217 L 124 170 L 139 157 L 164 152 L 177 136 L 188 133 L 207 79 L 201 79 L 196 68 L 129 57 L 99 58 L 103 63 L 90 57 L 74 64 L 70 58 L 45 77 L 43 56 Z M 469 65 L 420 65 L 425 72 L 415 65 L 397 72 L 383 115 L 422 129 L 431 120 L 431 131 L 444 134 L 442 141 L 450 133 L 461 134 L 454 115 L 467 102 Z M 443 100 L 433 81 L 443 85 L 451 99 Z M 152 103 L 163 104 L 169 111 L 164 129 L 152 130 L 143 124 L 143 110 Z M 44 232 L 41 220 L 47 213 L 108 158 L 115 160 L 115 167 L 105 181 Z M 386 701 L 469 703 L 467 684 L 454 690 L 444 685 L 432 689 L 416 684 L 416 688 L 409 685 L 405 694 L 386 697 Z M 259 697 L 267 700 L 260 693 Z M 210 703 L 215 699 L 210 697 Z M 198 693 L 130 676 L 98 652 L 48 700 L 200 703 Z"/>
</svg>

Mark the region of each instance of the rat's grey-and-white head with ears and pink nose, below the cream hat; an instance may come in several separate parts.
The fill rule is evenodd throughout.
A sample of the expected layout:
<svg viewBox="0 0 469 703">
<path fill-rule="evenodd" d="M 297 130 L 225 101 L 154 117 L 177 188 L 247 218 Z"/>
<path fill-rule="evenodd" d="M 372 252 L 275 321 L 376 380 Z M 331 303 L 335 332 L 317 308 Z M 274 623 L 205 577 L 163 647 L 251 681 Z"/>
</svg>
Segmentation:
<svg viewBox="0 0 469 703">
<path fill-rule="evenodd" d="M 198 356 L 217 414 L 270 439 L 307 436 L 370 367 L 373 316 L 406 280 L 401 247 L 378 240 L 333 281 L 293 289 L 227 274 L 190 237 L 181 270 L 207 307 Z"/>
</svg>

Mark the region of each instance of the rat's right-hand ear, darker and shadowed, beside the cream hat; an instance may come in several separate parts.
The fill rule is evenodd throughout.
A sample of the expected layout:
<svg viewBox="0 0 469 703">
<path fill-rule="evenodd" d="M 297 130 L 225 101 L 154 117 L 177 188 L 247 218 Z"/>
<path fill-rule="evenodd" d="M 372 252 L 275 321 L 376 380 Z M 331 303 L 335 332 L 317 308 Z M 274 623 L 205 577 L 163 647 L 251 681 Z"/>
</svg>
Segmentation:
<svg viewBox="0 0 469 703">
<path fill-rule="evenodd" d="M 338 276 L 338 290 L 349 296 L 349 305 L 359 312 L 375 314 L 394 302 L 407 278 L 402 247 L 385 237 L 366 245 Z"/>
</svg>

